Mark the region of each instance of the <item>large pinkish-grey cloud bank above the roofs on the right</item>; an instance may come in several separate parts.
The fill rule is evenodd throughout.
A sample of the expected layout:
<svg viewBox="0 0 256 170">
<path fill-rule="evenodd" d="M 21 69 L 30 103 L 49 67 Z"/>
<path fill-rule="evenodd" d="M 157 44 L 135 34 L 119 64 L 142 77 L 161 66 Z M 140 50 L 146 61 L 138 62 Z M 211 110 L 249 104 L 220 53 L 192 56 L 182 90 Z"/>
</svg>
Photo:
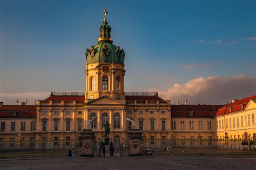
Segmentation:
<svg viewBox="0 0 256 170">
<path fill-rule="evenodd" d="M 160 97 L 176 104 L 185 100 L 188 104 L 225 104 L 232 98 L 255 95 L 256 78 L 237 76 L 208 76 L 192 79 L 184 84 L 174 84 L 169 89 L 150 89 L 159 91 Z"/>
</svg>

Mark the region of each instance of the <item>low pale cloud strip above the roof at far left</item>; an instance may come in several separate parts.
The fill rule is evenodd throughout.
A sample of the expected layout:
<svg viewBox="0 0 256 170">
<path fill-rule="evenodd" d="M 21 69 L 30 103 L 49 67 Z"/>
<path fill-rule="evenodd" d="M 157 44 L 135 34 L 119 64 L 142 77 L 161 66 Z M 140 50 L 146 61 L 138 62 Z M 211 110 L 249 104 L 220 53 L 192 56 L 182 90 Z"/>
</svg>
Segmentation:
<svg viewBox="0 0 256 170">
<path fill-rule="evenodd" d="M 0 101 L 4 102 L 4 104 L 16 104 L 16 100 L 18 99 L 19 104 L 21 102 L 25 102 L 28 99 L 28 104 L 34 104 L 33 102 L 36 100 L 43 100 L 50 96 L 49 92 L 26 92 L 26 93 L 2 93 L 0 94 Z"/>
</svg>

